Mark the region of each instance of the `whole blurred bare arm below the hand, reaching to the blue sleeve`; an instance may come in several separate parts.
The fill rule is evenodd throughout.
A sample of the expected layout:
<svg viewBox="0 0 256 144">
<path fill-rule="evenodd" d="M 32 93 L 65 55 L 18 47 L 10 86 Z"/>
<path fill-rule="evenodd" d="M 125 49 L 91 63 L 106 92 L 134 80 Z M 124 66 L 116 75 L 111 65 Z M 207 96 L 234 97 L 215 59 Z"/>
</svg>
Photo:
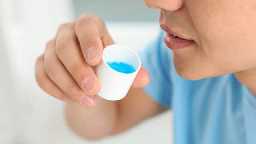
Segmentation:
<svg viewBox="0 0 256 144">
<path fill-rule="evenodd" d="M 78 135 L 98 139 L 123 132 L 167 109 L 152 100 L 141 88 L 131 88 L 127 96 L 119 101 L 98 97 L 98 104 L 92 109 L 66 104 L 66 119 Z"/>
</svg>

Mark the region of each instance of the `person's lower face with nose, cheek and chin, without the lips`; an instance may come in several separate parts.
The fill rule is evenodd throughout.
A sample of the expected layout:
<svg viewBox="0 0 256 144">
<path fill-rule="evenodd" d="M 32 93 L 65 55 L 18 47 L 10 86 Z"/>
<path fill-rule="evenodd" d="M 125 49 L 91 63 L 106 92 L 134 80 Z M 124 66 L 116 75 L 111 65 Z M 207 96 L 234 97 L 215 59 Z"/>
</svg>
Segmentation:
<svg viewBox="0 0 256 144">
<path fill-rule="evenodd" d="M 177 73 L 189 80 L 256 69 L 255 0 L 144 0 L 159 22 L 194 40 L 173 50 Z"/>
</svg>

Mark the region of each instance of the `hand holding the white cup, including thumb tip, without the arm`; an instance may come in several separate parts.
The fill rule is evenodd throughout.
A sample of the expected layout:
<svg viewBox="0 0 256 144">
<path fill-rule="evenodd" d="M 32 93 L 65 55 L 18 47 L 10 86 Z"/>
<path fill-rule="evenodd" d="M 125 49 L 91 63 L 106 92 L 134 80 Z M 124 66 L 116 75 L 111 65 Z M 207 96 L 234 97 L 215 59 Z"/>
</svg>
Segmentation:
<svg viewBox="0 0 256 144">
<path fill-rule="evenodd" d="M 94 67 L 102 60 L 103 48 L 111 44 L 114 41 L 98 16 L 84 13 L 74 22 L 62 24 L 36 60 L 38 85 L 59 100 L 86 108 L 96 106 L 100 82 Z M 132 86 L 144 87 L 149 79 L 142 67 Z"/>
</svg>

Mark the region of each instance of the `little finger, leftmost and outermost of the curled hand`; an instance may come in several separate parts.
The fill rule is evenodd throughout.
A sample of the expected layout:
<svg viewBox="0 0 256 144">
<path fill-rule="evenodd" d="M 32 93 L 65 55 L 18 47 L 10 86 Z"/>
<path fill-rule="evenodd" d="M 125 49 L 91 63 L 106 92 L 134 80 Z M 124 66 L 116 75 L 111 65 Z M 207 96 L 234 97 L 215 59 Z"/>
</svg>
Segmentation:
<svg viewBox="0 0 256 144">
<path fill-rule="evenodd" d="M 64 102 L 74 102 L 71 100 L 52 80 L 44 70 L 44 56 L 41 55 L 36 60 L 35 66 L 36 82 L 48 94 Z"/>
</svg>

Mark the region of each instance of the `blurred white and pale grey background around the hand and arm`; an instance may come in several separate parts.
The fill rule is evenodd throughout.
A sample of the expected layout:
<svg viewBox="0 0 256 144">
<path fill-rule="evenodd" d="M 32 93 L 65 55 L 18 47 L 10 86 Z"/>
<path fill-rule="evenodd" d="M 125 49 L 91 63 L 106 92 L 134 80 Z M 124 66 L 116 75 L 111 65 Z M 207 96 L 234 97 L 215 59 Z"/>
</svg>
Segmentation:
<svg viewBox="0 0 256 144">
<path fill-rule="evenodd" d="M 63 103 L 44 93 L 34 63 L 64 22 L 83 12 L 100 16 L 117 44 L 136 52 L 158 34 L 158 10 L 143 0 L 0 0 L 0 144 L 170 144 L 170 111 L 97 142 L 66 125 Z"/>
</svg>

